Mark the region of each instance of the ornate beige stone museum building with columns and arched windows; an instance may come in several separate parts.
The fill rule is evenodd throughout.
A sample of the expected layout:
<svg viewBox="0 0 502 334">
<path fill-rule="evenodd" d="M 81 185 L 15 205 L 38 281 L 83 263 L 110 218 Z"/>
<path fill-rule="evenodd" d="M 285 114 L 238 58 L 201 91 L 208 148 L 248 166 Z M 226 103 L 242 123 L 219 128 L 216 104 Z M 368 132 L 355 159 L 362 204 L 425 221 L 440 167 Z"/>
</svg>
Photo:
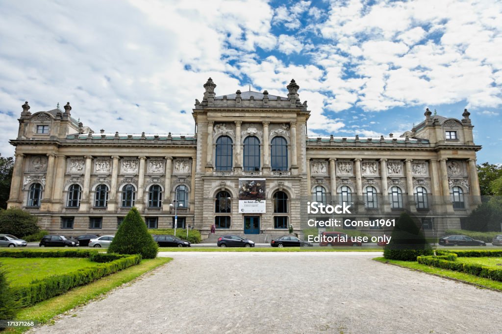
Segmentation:
<svg viewBox="0 0 502 334">
<path fill-rule="evenodd" d="M 286 97 L 266 90 L 216 96 L 211 78 L 203 87 L 190 136 L 95 133 L 71 116 L 70 103 L 32 113 L 26 102 L 11 140 L 8 207 L 65 235 L 113 234 L 134 206 L 149 228 L 174 227 L 176 215 L 178 228 L 203 238 L 214 224 L 216 235 L 266 241 L 290 224 L 302 234 L 309 201 L 350 203 L 351 219 L 406 210 L 431 233 L 460 228 L 479 204 L 481 146 L 467 110 L 459 120 L 427 109 L 401 136 L 312 138 L 294 80 Z"/>
</svg>

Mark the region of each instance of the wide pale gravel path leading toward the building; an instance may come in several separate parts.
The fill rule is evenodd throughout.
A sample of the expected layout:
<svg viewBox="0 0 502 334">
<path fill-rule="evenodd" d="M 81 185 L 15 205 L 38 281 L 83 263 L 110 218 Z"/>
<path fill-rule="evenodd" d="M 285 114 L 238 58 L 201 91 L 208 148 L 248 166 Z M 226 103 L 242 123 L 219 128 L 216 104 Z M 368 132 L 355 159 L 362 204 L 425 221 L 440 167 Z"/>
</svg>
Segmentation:
<svg viewBox="0 0 502 334">
<path fill-rule="evenodd" d="M 385 265 L 371 253 L 170 256 L 155 274 L 34 331 L 500 332 L 501 293 Z"/>
</svg>

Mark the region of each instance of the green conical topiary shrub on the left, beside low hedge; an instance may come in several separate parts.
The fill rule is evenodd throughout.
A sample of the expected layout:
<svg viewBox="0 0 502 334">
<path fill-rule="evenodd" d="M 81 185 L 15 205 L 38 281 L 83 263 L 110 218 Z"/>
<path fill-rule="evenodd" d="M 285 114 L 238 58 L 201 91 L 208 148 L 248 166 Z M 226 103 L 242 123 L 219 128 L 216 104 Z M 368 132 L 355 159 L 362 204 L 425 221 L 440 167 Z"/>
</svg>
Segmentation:
<svg viewBox="0 0 502 334">
<path fill-rule="evenodd" d="M 154 259 L 158 251 L 159 246 L 148 233 L 138 209 L 132 208 L 118 227 L 108 253 L 141 254 L 144 259 Z"/>
</svg>

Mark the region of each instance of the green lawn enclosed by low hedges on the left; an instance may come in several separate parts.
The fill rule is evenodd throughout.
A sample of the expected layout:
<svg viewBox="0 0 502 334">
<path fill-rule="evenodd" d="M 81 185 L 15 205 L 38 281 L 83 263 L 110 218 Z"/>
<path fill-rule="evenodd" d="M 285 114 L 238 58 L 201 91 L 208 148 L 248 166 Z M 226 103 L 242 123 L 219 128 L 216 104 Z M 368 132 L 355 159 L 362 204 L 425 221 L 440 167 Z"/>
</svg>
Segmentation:
<svg viewBox="0 0 502 334">
<path fill-rule="evenodd" d="M 28 285 L 33 279 L 50 275 L 65 274 L 85 267 L 94 267 L 100 263 L 91 262 L 87 258 L 0 258 L 7 270 L 7 279 L 11 286 Z"/>
</svg>

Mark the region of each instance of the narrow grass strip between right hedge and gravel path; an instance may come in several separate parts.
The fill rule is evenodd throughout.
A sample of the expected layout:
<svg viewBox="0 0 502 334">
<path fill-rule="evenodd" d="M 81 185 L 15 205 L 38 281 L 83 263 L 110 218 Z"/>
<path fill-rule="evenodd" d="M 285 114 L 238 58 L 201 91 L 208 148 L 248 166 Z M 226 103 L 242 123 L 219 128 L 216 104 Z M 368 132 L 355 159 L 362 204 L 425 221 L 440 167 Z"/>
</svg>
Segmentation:
<svg viewBox="0 0 502 334">
<path fill-rule="evenodd" d="M 492 281 L 491 279 L 488 279 L 488 278 L 482 278 L 482 277 L 474 276 L 471 274 L 466 274 L 466 273 L 448 270 L 448 269 L 430 267 L 425 264 L 420 264 L 416 261 L 390 260 L 390 259 L 386 259 L 385 257 L 377 257 L 377 258 L 374 258 L 373 260 L 379 261 L 382 263 L 395 264 L 400 267 L 422 271 L 422 272 L 425 272 L 428 274 L 453 279 L 456 281 L 460 281 L 460 282 L 471 284 L 471 285 L 476 285 L 476 286 L 483 287 L 483 288 L 489 288 L 489 289 L 493 289 L 493 290 L 497 290 L 497 291 L 502 291 L 502 282 Z"/>
</svg>

